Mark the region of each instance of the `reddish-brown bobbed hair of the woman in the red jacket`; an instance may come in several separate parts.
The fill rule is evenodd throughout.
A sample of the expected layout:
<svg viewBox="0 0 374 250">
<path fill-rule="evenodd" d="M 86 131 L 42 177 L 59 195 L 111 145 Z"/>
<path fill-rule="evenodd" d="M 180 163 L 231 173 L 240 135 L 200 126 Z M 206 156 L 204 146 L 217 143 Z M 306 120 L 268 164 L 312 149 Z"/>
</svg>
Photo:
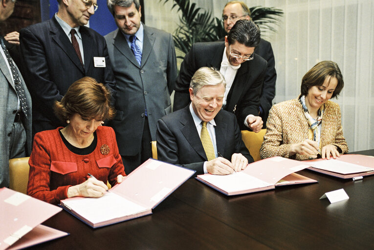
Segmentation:
<svg viewBox="0 0 374 250">
<path fill-rule="evenodd" d="M 110 91 L 103 83 L 84 77 L 70 85 L 61 102 L 56 101 L 55 114 L 62 122 L 73 114 L 79 114 L 85 120 L 112 119 L 115 110 L 110 106 L 110 98 Z"/>
</svg>

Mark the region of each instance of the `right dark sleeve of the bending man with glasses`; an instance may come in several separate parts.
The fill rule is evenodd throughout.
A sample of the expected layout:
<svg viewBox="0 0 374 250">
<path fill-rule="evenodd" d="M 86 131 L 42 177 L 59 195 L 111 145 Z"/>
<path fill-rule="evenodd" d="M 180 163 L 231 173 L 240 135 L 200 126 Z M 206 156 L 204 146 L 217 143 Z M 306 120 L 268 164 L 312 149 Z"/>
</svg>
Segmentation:
<svg viewBox="0 0 374 250">
<path fill-rule="evenodd" d="M 264 77 L 266 73 L 266 67 L 264 67 L 263 72 L 258 76 L 256 81 L 252 84 L 251 88 L 248 89 L 247 93 L 243 96 L 242 100 L 242 110 L 239 114 L 238 122 L 244 128 L 244 120 L 248 115 L 255 115 L 258 116 L 258 104 L 260 100 L 261 88 L 264 83 Z"/>
</svg>

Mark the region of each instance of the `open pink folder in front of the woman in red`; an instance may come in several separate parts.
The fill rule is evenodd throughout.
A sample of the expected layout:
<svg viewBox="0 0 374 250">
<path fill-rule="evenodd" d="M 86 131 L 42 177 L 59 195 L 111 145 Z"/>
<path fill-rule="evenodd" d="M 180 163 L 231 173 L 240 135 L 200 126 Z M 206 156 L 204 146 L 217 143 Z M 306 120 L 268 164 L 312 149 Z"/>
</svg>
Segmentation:
<svg viewBox="0 0 374 250">
<path fill-rule="evenodd" d="M 154 159 L 148 159 L 126 179 L 100 198 L 69 198 L 61 206 L 92 228 L 107 226 L 152 213 L 195 173 Z"/>
</svg>

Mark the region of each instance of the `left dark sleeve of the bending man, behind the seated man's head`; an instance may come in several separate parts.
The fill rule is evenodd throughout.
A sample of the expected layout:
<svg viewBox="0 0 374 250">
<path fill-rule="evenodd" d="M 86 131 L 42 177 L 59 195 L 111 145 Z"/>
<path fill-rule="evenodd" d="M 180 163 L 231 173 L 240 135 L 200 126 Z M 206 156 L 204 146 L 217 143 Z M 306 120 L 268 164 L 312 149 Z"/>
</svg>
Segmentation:
<svg viewBox="0 0 374 250">
<path fill-rule="evenodd" d="M 184 108 L 190 103 L 190 81 L 195 74 L 197 68 L 195 63 L 195 44 L 192 45 L 191 50 L 186 54 L 183 62 L 180 64 L 179 76 L 176 79 L 176 87 L 174 94 L 173 111 Z"/>
</svg>

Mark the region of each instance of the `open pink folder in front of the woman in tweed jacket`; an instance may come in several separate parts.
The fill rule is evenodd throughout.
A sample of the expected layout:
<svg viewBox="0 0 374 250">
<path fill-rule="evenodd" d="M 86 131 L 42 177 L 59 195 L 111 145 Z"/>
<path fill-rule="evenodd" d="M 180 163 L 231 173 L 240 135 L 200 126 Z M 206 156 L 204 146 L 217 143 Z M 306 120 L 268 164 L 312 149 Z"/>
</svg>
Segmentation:
<svg viewBox="0 0 374 250">
<path fill-rule="evenodd" d="M 336 159 L 318 159 L 305 161 L 308 169 L 331 176 L 348 179 L 374 174 L 374 156 L 344 154 Z"/>
</svg>

